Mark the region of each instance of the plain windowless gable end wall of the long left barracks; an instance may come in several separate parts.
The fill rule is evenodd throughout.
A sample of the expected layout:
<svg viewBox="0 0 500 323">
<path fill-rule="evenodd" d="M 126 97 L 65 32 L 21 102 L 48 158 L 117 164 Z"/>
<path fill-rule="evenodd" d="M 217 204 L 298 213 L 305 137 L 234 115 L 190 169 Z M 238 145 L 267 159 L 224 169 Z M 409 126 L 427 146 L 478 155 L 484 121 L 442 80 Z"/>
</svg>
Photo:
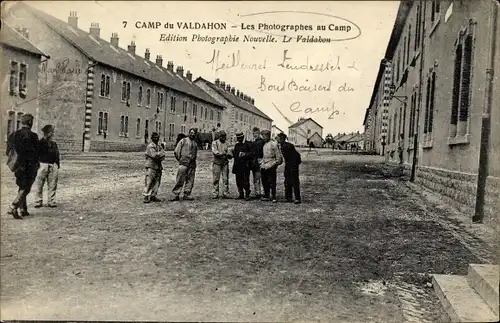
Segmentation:
<svg viewBox="0 0 500 323">
<path fill-rule="evenodd" d="M 14 16 L 7 16 L 6 22 L 13 28 L 27 28 L 29 40 L 51 57 L 39 70 L 39 128 L 47 123 L 55 126 L 62 152 L 81 151 L 88 59 L 25 9 L 13 10 Z"/>
</svg>

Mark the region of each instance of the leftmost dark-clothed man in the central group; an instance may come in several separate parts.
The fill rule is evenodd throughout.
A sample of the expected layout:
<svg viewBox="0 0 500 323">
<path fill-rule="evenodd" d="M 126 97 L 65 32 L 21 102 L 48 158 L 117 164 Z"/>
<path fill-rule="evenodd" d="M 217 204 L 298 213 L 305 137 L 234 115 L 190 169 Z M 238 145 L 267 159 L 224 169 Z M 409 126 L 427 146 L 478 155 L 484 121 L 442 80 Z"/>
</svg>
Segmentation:
<svg viewBox="0 0 500 323">
<path fill-rule="evenodd" d="M 250 200 L 250 165 L 252 163 L 252 151 L 248 142 L 244 142 L 243 132 L 236 133 L 236 144 L 233 150 L 233 174 L 236 175 L 236 186 L 238 186 L 237 200 Z"/>
</svg>

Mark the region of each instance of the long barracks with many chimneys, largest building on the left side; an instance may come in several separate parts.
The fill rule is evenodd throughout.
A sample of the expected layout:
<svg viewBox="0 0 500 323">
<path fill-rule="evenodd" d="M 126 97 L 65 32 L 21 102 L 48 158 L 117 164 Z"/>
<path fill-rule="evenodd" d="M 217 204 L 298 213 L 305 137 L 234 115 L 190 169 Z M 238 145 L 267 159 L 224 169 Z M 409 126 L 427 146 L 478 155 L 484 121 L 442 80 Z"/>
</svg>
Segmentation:
<svg viewBox="0 0 500 323">
<path fill-rule="evenodd" d="M 119 47 L 118 34 L 100 38 L 98 23 L 79 29 L 25 3 L 10 8 L 6 21 L 26 28 L 30 39 L 51 55 L 39 73 L 39 121 L 56 127 L 63 152 L 136 151 L 145 137 L 160 133 L 170 148 L 190 127 L 209 132 L 222 120 L 223 106 L 192 81 L 192 74 L 161 55 L 136 54 L 132 42 Z"/>
</svg>

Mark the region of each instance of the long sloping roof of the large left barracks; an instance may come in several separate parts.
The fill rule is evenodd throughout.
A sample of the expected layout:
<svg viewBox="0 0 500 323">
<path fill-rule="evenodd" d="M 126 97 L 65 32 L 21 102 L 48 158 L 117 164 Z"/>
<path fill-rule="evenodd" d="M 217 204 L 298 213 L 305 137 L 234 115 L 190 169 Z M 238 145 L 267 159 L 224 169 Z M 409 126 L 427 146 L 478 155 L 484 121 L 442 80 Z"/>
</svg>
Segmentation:
<svg viewBox="0 0 500 323">
<path fill-rule="evenodd" d="M 215 101 L 192 81 L 189 81 L 185 77 L 181 77 L 173 71 L 168 71 L 165 67 L 160 67 L 154 62 L 146 61 L 143 57 L 129 53 L 125 49 L 113 47 L 104 39 L 96 39 L 90 36 L 88 32 L 78 28 L 74 29 L 67 22 L 35 9 L 26 3 L 19 2 L 16 5 L 24 6 L 29 12 L 61 35 L 61 37 L 66 39 L 85 55 L 101 64 L 133 74 L 177 92 L 188 94 L 206 103 L 224 108 L 224 106 Z"/>
</svg>

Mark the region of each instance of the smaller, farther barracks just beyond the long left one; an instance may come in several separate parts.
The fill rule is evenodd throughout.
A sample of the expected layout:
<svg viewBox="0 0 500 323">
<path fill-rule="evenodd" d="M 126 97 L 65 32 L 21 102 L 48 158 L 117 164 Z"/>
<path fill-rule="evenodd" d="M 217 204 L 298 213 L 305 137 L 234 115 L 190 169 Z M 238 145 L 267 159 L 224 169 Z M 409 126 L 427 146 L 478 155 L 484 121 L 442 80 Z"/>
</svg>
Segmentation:
<svg viewBox="0 0 500 323">
<path fill-rule="evenodd" d="M 198 77 L 194 83 L 224 106 L 221 128 L 226 131 L 230 144 L 235 143 L 236 133 L 243 132 L 252 140 L 252 129 L 271 130 L 273 120 L 255 106 L 255 99 L 234 86 L 216 79 L 214 83 Z"/>
</svg>

